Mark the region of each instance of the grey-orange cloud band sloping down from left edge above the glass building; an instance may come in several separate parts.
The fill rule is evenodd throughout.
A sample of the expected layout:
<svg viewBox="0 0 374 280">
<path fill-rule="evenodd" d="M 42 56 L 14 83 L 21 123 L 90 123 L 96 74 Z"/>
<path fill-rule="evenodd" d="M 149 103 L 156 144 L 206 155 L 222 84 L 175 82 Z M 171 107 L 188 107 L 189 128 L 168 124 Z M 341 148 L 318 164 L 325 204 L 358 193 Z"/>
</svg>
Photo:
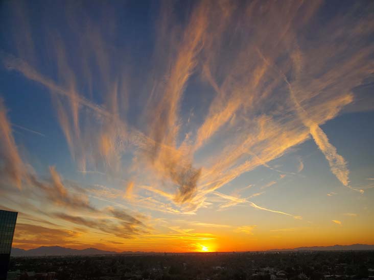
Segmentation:
<svg viewBox="0 0 374 280">
<path fill-rule="evenodd" d="M 55 207 L 65 209 L 67 211 L 80 211 L 81 213 L 86 213 L 88 215 L 103 215 L 105 212 L 98 210 L 93 207 L 88 199 L 86 191 L 78 186 L 71 186 L 75 188 L 76 191 L 74 194 L 69 191 L 62 180 L 61 175 L 56 171 L 55 167 L 50 167 L 50 178 L 46 180 L 41 180 L 36 174 L 31 173 L 31 170 L 26 168 L 26 164 L 21 160 L 17 146 L 15 145 L 12 133 L 10 122 L 6 118 L 5 108 L 2 104 L 2 111 L 0 112 L 0 124 L 2 124 L 1 132 L 2 140 L 4 141 L 4 146 L 7 149 L 2 150 L 1 160 L 7 160 L 6 167 L 7 169 L 2 170 L 3 179 L 2 183 L 5 183 L 5 178 L 12 180 L 15 185 L 24 183 L 23 188 L 25 192 L 29 192 L 32 197 L 37 197 L 39 201 L 44 201 L 45 203 L 52 203 Z M 3 145 L 2 145 L 3 147 Z M 11 168 L 11 169 L 10 169 Z M 41 212 L 36 207 L 31 204 L 28 205 L 25 202 L 19 201 L 20 205 L 24 209 L 30 208 L 33 212 Z M 46 216 L 51 216 L 50 213 L 44 212 Z M 106 210 L 107 217 L 111 219 L 115 218 L 118 222 L 112 222 L 109 220 L 95 220 L 87 219 L 80 216 L 72 216 L 66 213 L 54 214 L 54 218 L 66 220 L 77 225 L 84 225 L 91 228 L 96 228 L 102 232 L 121 236 L 124 238 L 130 238 L 134 234 L 148 233 L 149 228 L 138 218 L 135 218 L 123 210 L 118 210 L 114 208 L 109 208 Z M 143 218 L 143 217 L 142 217 Z M 31 225 L 23 224 L 22 228 L 36 229 Z M 38 230 L 40 230 L 40 227 Z M 59 233 L 67 233 L 68 231 L 60 231 Z M 55 235 L 58 231 L 52 231 L 51 233 Z M 24 233 L 26 235 L 26 233 Z M 26 242 L 25 240 L 18 240 L 18 242 Z M 45 241 L 46 242 L 46 241 Z"/>
</svg>

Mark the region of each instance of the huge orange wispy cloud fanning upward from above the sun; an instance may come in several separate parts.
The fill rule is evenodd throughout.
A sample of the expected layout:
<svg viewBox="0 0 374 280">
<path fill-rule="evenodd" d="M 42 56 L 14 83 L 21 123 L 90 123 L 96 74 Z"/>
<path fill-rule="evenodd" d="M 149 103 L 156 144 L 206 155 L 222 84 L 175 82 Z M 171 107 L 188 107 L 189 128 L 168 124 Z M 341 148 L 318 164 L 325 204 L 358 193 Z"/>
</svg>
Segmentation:
<svg viewBox="0 0 374 280">
<path fill-rule="evenodd" d="M 370 48 L 354 55 L 356 52 L 348 47 L 353 39 L 366 36 L 367 22 L 362 18 L 349 25 L 348 29 L 352 31 L 348 32 L 349 38 L 344 39 L 339 52 L 334 54 L 341 67 L 334 66 L 333 72 L 331 66 L 324 63 L 323 55 L 316 56 L 330 49 L 328 42 L 322 41 L 324 43 L 312 50 L 301 47 L 302 38 L 295 39 L 295 34 L 308 25 L 319 5 L 295 5 L 300 9 L 289 10 L 289 14 L 284 16 L 273 7 L 262 9 L 254 3 L 243 9 L 243 16 L 238 17 L 233 16 L 239 12 L 235 5 L 212 6 L 204 2 L 194 6 L 183 27 L 173 22 L 172 9 L 163 7 L 166 9 L 162 10 L 159 18 L 155 59 L 152 61 L 154 77 L 149 79 L 151 85 L 147 84 L 151 90 L 144 112 L 136 116 L 147 122 L 145 129 L 130 125 L 121 113 L 127 111 L 126 100 L 131 93 L 124 87 L 126 78 L 123 75 L 110 76 L 110 67 L 117 67 L 117 64 L 111 60 L 112 49 L 91 19 L 87 20 L 93 28 L 79 40 L 87 54 L 92 55 L 100 66 L 99 78 L 105 92 L 103 105 L 79 92 L 78 89 L 82 88 L 79 71 L 72 67 L 72 57 L 69 57 L 67 44 L 61 37 L 48 35 L 56 46 L 51 55 L 56 58 L 60 83 L 45 77 L 24 59 L 3 53 L 2 60 L 8 69 L 21 72 L 51 91 L 72 156 L 79 166 L 84 167 L 83 170 L 86 170 L 87 164 L 93 164 L 107 173 L 120 173 L 121 155 L 130 149 L 137 159 L 136 164 L 147 165 L 154 175 L 178 186 L 174 201 L 190 203 L 201 189 L 208 193 L 244 172 L 260 165 L 267 166 L 269 161 L 281 157 L 289 148 L 306 141 L 311 135 L 332 172 L 343 185 L 349 186 L 346 161 L 319 125 L 334 118 L 341 108 L 352 102 L 352 94 L 340 93 L 359 84 L 368 73 L 368 66 L 363 62 Z M 308 16 L 296 24 L 294 18 L 298 18 L 300 11 Z M 251 31 L 252 40 L 238 38 L 234 34 L 231 39 L 241 42 L 236 49 L 230 51 L 222 45 L 227 32 L 233 27 L 253 26 L 256 22 L 263 23 L 264 18 L 268 19 L 266 24 L 260 24 L 258 30 Z M 239 26 L 238 20 L 241 21 Z M 350 22 L 350 19 L 347 21 Z M 359 27 L 365 27 L 361 34 L 354 32 Z M 329 28 L 330 36 L 340 38 L 339 30 L 330 26 L 321 29 L 316 37 L 322 38 Z M 280 47 L 268 47 L 266 44 L 268 37 L 264 38 L 263 34 L 269 30 L 272 30 L 272 40 Z M 230 55 L 222 57 L 222 52 Z M 346 56 L 346 53 L 349 55 Z M 279 57 L 285 58 L 284 64 L 275 63 Z M 92 83 L 92 71 L 87 68 L 85 58 L 86 55 L 82 59 L 82 72 L 85 73 L 85 83 L 89 84 Z M 223 59 L 225 63 L 220 63 Z M 355 71 L 350 71 L 351 68 Z M 216 95 L 201 125 L 188 132 L 189 137 L 178 146 L 183 126 L 183 116 L 180 115 L 182 96 L 191 75 L 200 69 L 203 79 Z M 291 72 L 292 79 L 286 78 L 286 72 Z M 338 80 L 342 75 L 345 75 L 344 81 Z M 308 84 L 310 87 L 306 87 Z M 92 84 L 88 87 L 92 88 Z M 328 88 L 331 89 L 329 94 L 321 94 Z M 278 89 L 288 89 L 289 96 L 279 94 Z M 273 106 L 273 102 L 278 107 Z M 88 108 L 89 112 L 82 108 Z M 293 111 L 297 112 L 299 120 L 289 117 Z M 99 117 L 100 121 L 95 117 Z M 229 137 L 231 134 L 235 135 L 234 140 Z M 212 161 L 206 161 L 213 162 L 212 165 L 196 167 L 200 164 L 193 162 L 192 154 L 198 153 L 216 135 L 223 136 L 223 144 L 231 144 L 214 155 Z M 300 161 L 298 171 L 302 166 Z M 195 207 L 201 205 L 200 202 L 194 203 Z"/>
</svg>

